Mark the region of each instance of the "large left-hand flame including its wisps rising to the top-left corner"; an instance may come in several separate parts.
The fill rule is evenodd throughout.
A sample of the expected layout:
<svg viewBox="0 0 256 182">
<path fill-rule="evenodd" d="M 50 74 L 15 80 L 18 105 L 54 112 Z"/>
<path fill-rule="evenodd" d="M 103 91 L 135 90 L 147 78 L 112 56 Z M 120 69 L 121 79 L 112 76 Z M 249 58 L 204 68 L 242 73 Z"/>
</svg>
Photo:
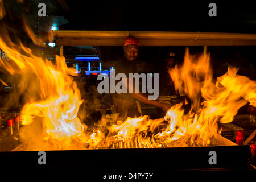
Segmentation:
<svg viewBox="0 0 256 182">
<path fill-rule="evenodd" d="M 2 1 L 0 9 L 2 19 L 5 16 Z M 43 39 L 36 38 L 26 18 L 22 17 L 24 32 L 34 44 L 43 46 Z M 84 125 L 77 117 L 82 100 L 72 78 L 75 69 L 68 68 L 65 58 L 61 56 L 56 55 L 55 61 L 35 56 L 15 34 L 15 42 L 11 41 L 10 34 L 15 32 L 15 28 L 2 23 L 0 48 L 6 57 L 0 60 L 0 67 L 9 72 L 10 77 L 18 75 L 15 84 L 19 88 L 14 90 L 12 96 L 22 98 L 25 104 L 21 121 L 28 127 L 20 132 L 22 139 L 30 141 L 32 148 L 44 148 L 48 146 L 48 141 L 54 146 L 53 149 L 68 148 L 74 138 L 77 140 L 84 134 Z M 17 102 L 11 100 L 13 97 L 9 98 L 9 103 Z"/>
</svg>

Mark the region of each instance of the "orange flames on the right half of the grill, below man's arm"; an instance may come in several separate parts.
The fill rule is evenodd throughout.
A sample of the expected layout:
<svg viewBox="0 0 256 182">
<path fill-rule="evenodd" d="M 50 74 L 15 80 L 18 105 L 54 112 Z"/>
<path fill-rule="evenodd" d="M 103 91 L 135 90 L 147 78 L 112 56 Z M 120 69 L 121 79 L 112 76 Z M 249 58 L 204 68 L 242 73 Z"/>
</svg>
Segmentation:
<svg viewBox="0 0 256 182">
<path fill-rule="evenodd" d="M 217 123 L 231 122 L 248 101 L 255 104 L 255 82 L 236 72 L 237 69 L 229 68 L 224 76 L 214 80 L 209 53 L 192 56 L 187 49 L 184 64 L 172 69 L 170 75 L 175 88 L 191 101 L 191 110 L 185 113 L 186 103 L 181 102 L 172 106 L 164 118 L 155 121 L 147 116 L 127 118 L 109 128 L 112 137 L 108 135 L 107 140 L 118 143 L 121 148 L 217 144 L 212 140 L 217 137 Z M 164 130 L 159 130 L 160 126 Z"/>
</svg>

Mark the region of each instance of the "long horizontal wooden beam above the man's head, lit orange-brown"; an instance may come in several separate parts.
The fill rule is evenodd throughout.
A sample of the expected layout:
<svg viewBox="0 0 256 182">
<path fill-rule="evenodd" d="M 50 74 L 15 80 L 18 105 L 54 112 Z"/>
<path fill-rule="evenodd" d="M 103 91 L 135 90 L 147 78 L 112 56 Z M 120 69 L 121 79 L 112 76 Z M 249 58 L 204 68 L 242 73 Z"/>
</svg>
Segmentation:
<svg viewBox="0 0 256 182">
<path fill-rule="evenodd" d="M 123 46 L 128 35 L 140 46 L 256 46 L 256 34 L 149 31 L 52 31 L 61 46 Z"/>
</svg>

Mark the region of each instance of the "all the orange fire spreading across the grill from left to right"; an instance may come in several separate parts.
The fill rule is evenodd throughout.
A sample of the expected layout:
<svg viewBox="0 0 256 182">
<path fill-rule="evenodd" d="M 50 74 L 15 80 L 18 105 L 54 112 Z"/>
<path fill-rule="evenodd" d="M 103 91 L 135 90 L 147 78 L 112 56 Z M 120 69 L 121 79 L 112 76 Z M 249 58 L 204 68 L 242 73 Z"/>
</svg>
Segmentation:
<svg viewBox="0 0 256 182">
<path fill-rule="evenodd" d="M 30 28 L 26 26 L 26 30 L 35 38 Z M 231 122 L 247 102 L 256 106 L 254 81 L 237 75 L 237 69 L 231 67 L 214 80 L 210 53 L 190 55 L 187 49 L 184 64 L 170 70 L 175 89 L 185 94 L 186 101 L 154 120 L 144 115 L 120 121 L 114 114 L 107 115 L 97 131 L 92 131 L 78 117 L 83 100 L 71 77 L 75 69 L 67 67 L 64 57 L 56 55 L 55 62 L 49 61 L 10 40 L 0 38 L 0 48 L 9 58 L 1 59 L 0 67 L 11 75 L 19 74 L 21 86 L 15 94 L 26 101 L 21 115 L 26 126 L 20 136 L 27 142 L 27 150 L 210 146 L 216 144 L 212 139 L 218 122 Z"/>
</svg>

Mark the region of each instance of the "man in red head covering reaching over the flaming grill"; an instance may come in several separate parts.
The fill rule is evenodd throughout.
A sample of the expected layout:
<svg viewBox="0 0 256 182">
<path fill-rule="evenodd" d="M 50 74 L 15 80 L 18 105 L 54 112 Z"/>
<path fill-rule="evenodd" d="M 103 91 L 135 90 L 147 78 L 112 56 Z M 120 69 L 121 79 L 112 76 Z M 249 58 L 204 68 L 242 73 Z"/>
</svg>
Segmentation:
<svg viewBox="0 0 256 182">
<path fill-rule="evenodd" d="M 123 80 L 126 84 L 126 88 L 129 88 L 129 73 L 137 73 L 137 68 L 135 65 L 135 59 L 139 53 L 139 41 L 133 36 L 129 36 L 125 39 L 123 46 L 124 57 L 115 65 L 115 75 L 118 73 L 125 73 L 126 80 Z M 134 84 L 135 85 L 135 84 Z M 134 89 L 134 88 L 133 88 Z M 156 100 L 148 100 L 146 94 L 142 93 L 120 93 L 114 95 L 114 105 L 115 110 L 119 113 L 120 117 L 126 119 L 127 117 L 139 117 L 142 113 L 138 109 L 138 101 L 144 102 L 145 104 L 154 105 L 159 107 L 164 112 L 170 109 L 171 105 L 163 104 Z M 137 101 L 138 100 L 138 101 Z"/>
</svg>

